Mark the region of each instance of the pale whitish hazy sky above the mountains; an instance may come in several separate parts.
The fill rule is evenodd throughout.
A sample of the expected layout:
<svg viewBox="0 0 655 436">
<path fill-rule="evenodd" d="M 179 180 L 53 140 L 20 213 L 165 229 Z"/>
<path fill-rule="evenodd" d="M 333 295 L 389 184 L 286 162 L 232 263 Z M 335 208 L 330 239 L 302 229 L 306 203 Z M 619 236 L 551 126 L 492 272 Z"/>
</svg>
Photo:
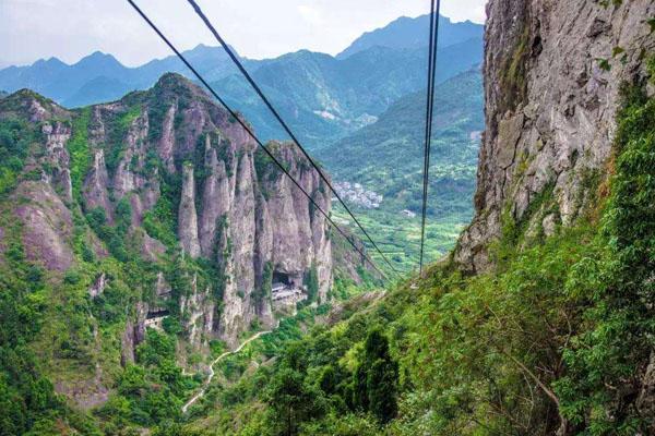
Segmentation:
<svg viewBox="0 0 655 436">
<path fill-rule="evenodd" d="M 336 55 L 364 32 L 429 11 L 429 0 L 196 0 L 246 57 L 307 48 Z M 138 0 L 181 49 L 216 45 L 186 0 Z M 483 23 L 486 0 L 442 0 L 442 14 Z M 0 0 L 0 66 L 95 51 L 128 65 L 170 55 L 126 0 Z"/>
</svg>

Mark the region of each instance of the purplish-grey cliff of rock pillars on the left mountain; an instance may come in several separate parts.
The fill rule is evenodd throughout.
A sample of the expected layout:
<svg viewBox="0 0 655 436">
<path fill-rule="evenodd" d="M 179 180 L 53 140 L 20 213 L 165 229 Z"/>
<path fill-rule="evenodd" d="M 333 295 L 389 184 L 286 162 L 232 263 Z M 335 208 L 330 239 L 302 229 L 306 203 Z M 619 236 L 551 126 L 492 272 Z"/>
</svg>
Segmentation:
<svg viewBox="0 0 655 436">
<path fill-rule="evenodd" d="M 213 338 L 234 346 L 243 330 L 273 326 L 276 312 L 298 301 L 326 301 L 326 220 L 228 112 L 181 76 L 75 111 L 22 90 L 2 99 L 0 120 L 32 135 L 4 202 L 20 219 L 29 262 L 60 275 L 95 265 L 92 299 L 116 281 L 100 271 L 104 258 L 153 271 L 123 308 L 123 362 L 134 360 L 145 327 L 162 328 L 170 315 L 188 343 L 206 351 Z M 327 190 L 300 154 L 270 146 L 329 211 Z"/>
</svg>

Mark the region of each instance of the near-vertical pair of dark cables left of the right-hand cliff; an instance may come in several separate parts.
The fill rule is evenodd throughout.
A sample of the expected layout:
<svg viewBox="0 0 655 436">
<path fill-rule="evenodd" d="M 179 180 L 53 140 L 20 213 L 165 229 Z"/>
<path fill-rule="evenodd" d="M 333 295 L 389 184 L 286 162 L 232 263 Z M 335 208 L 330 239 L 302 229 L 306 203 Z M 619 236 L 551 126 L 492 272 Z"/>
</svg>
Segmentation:
<svg viewBox="0 0 655 436">
<path fill-rule="evenodd" d="M 437 45 L 439 43 L 439 12 L 440 0 L 431 0 L 430 4 L 430 44 L 428 56 L 428 95 L 426 104 L 426 136 L 424 149 L 424 192 L 422 192 L 422 217 L 420 225 L 420 257 L 419 274 L 422 275 L 424 254 L 426 243 L 426 216 L 428 210 L 428 185 L 430 180 L 430 145 L 432 141 L 432 117 L 434 113 L 434 82 L 437 72 Z"/>
</svg>

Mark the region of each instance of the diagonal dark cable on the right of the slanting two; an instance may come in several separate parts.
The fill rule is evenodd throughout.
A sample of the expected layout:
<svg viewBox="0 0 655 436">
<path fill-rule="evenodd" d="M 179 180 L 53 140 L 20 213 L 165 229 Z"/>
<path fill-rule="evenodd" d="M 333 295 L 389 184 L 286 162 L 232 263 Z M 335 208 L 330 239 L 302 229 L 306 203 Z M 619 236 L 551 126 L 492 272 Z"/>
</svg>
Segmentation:
<svg viewBox="0 0 655 436">
<path fill-rule="evenodd" d="M 233 62 L 235 63 L 235 65 L 237 65 L 237 68 L 239 69 L 239 71 L 241 72 L 241 74 L 246 77 L 246 80 L 248 81 L 248 83 L 250 83 L 250 86 L 252 86 L 252 88 L 260 96 L 260 98 L 262 99 L 262 101 L 264 101 L 264 104 L 266 105 L 266 107 L 269 108 L 269 110 L 271 110 L 271 112 L 273 113 L 273 117 L 275 117 L 275 119 L 279 122 L 279 124 L 285 130 L 285 132 L 289 135 L 289 137 L 291 138 L 291 141 L 300 149 L 300 152 L 302 153 L 302 155 L 305 155 L 305 157 L 307 158 L 307 160 L 309 161 L 309 164 L 317 170 L 317 172 L 319 173 L 319 175 L 321 177 L 321 179 L 323 180 L 323 182 L 327 185 L 327 187 L 330 187 L 330 190 L 332 191 L 332 193 L 334 194 L 334 196 L 336 197 L 336 199 L 341 203 L 341 205 L 344 207 L 344 209 L 348 213 L 348 215 L 350 216 L 350 218 L 353 218 L 353 220 L 355 221 L 355 223 L 357 225 L 357 227 L 361 230 L 361 232 L 366 235 L 366 238 L 368 239 L 368 241 L 373 245 L 373 247 L 376 249 L 376 251 L 382 256 L 382 258 L 391 267 L 391 269 L 396 275 L 400 275 L 400 272 L 396 270 L 396 268 L 393 266 L 393 264 L 389 261 L 389 258 L 386 258 L 386 256 L 384 255 L 384 253 L 382 253 L 382 251 L 380 250 L 380 247 L 378 246 L 378 244 L 373 241 L 373 239 L 369 235 L 369 233 L 366 231 L 366 229 L 364 228 L 364 226 L 359 222 L 359 220 L 357 219 L 357 217 L 355 216 L 355 214 L 353 214 L 353 211 L 350 211 L 350 208 L 348 206 L 346 206 L 346 204 L 344 203 L 344 201 L 342 199 L 342 197 L 338 195 L 338 193 L 336 192 L 336 190 L 332 186 L 332 183 L 330 182 L 330 179 L 327 179 L 325 177 L 325 174 L 323 174 L 323 171 L 319 168 L 319 166 L 311 158 L 311 156 L 309 156 L 309 153 L 307 153 L 306 148 L 302 146 L 302 144 L 300 144 L 300 141 L 298 141 L 298 138 L 296 137 L 296 135 L 294 134 L 294 132 L 291 132 L 290 128 L 284 121 L 284 119 L 282 118 L 282 116 L 277 112 L 277 110 L 273 107 L 273 105 L 271 104 L 271 101 L 269 100 L 269 98 L 261 90 L 261 88 L 259 87 L 259 85 L 257 84 L 257 82 L 254 82 L 254 80 L 252 78 L 252 76 L 250 75 L 250 73 L 248 73 L 248 71 L 246 70 L 246 68 L 243 68 L 243 64 L 241 63 L 241 61 L 239 60 L 239 58 L 235 55 L 235 52 L 229 47 L 229 45 L 218 34 L 218 32 L 216 31 L 216 28 L 214 27 L 214 25 L 212 24 L 212 22 L 210 21 L 210 19 L 207 19 L 207 16 L 204 14 L 204 12 L 200 8 L 200 5 L 198 5 L 198 3 L 195 2 L 195 0 L 187 0 L 187 1 L 189 2 L 189 4 L 191 4 L 191 7 L 193 8 L 193 10 L 198 14 L 198 16 L 200 16 L 200 19 L 207 26 L 207 28 L 210 29 L 210 32 L 212 33 L 212 35 L 214 35 L 214 37 L 216 38 L 216 40 L 223 46 L 223 48 L 225 49 L 225 51 L 227 52 L 227 55 L 230 57 L 230 59 L 233 60 Z"/>
</svg>

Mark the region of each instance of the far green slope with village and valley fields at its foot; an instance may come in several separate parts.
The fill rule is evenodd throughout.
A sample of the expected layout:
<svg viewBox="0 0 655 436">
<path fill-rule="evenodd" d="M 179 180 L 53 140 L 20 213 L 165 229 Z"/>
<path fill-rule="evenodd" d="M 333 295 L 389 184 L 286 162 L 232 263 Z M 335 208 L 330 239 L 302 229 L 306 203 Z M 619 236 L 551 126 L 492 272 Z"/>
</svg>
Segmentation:
<svg viewBox="0 0 655 436">
<path fill-rule="evenodd" d="M 480 72 L 473 70 L 436 89 L 427 240 L 431 261 L 453 247 L 473 216 L 484 130 L 481 82 Z M 408 94 L 373 124 L 317 150 L 337 182 L 360 183 L 364 190 L 383 196 L 378 208 L 362 207 L 357 202 L 350 202 L 350 206 L 403 270 L 415 268 L 419 255 L 425 101 L 425 92 Z M 405 209 L 417 216 L 407 217 Z M 340 207 L 335 207 L 335 214 L 347 220 Z"/>
</svg>

